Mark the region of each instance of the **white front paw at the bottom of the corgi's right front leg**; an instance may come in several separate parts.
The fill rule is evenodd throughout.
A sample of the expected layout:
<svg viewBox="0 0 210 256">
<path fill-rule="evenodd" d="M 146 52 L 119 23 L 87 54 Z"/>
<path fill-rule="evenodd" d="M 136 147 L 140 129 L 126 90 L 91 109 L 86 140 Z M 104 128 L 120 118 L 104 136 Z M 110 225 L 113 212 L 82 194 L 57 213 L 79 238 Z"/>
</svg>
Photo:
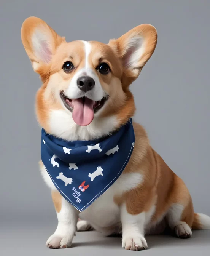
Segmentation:
<svg viewBox="0 0 210 256">
<path fill-rule="evenodd" d="M 132 237 L 123 237 L 122 247 L 131 251 L 141 251 L 148 248 L 146 239 L 140 234 Z"/>
</svg>

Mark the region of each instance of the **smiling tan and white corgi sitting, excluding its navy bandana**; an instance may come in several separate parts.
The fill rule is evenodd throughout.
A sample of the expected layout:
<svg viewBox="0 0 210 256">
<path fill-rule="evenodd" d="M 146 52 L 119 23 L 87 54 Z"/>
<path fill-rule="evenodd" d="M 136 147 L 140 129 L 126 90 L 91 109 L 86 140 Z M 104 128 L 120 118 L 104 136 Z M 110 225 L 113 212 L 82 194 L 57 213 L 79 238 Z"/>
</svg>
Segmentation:
<svg viewBox="0 0 210 256">
<path fill-rule="evenodd" d="M 153 26 L 142 24 L 108 44 L 66 42 L 43 20 L 29 17 L 22 24 L 21 38 L 43 83 L 35 109 L 47 133 L 66 141 L 94 140 L 110 135 L 133 117 L 129 86 L 156 48 Z M 210 217 L 194 213 L 185 183 L 150 146 L 144 128 L 136 122 L 133 127 L 135 147 L 124 171 L 81 213 L 62 197 L 40 162 L 58 219 L 46 242 L 49 248 L 70 247 L 76 230 L 122 234 L 122 247 L 136 251 L 148 247 L 145 234 L 170 228 L 175 236 L 189 238 L 193 229 L 210 228 Z M 87 186 L 81 184 L 80 190 Z"/>
</svg>

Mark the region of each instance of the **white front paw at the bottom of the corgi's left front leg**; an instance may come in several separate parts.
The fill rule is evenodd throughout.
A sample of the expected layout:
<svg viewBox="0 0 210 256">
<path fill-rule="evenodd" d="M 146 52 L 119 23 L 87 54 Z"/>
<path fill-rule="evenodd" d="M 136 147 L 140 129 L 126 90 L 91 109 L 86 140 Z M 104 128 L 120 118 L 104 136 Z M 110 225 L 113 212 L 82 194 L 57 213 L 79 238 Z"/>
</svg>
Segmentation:
<svg viewBox="0 0 210 256">
<path fill-rule="evenodd" d="M 69 248 L 72 245 L 72 238 L 70 236 L 60 236 L 53 234 L 46 242 L 46 246 L 51 249 Z"/>
</svg>

